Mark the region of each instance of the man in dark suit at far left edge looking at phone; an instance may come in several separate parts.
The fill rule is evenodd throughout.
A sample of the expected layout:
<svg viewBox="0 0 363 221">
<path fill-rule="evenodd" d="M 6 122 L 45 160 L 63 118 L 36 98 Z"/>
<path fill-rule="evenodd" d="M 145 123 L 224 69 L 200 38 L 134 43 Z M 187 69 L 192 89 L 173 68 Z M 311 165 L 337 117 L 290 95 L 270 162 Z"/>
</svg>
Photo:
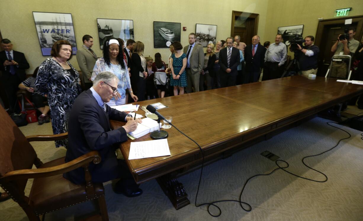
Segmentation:
<svg viewBox="0 0 363 221">
<path fill-rule="evenodd" d="M 0 52 L 1 87 L 6 92 L 10 112 L 13 112 L 16 91 L 18 85 L 25 80 L 25 69 L 29 68 L 29 64 L 23 53 L 13 50 L 13 44 L 9 39 L 1 40 L 1 46 L 4 49 Z"/>
</svg>

